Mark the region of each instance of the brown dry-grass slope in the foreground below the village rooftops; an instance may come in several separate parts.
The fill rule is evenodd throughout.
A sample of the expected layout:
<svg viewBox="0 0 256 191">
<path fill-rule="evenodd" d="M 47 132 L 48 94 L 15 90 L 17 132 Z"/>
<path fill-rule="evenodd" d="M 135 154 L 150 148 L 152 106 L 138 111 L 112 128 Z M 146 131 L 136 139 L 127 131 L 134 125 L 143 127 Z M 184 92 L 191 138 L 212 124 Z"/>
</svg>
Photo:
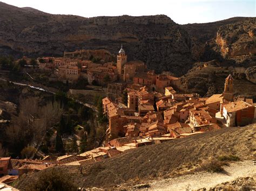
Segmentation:
<svg viewBox="0 0 256 191">
<path fill-rule="evenodd" d="M 236 155 L 241 160 L 251 159 L 256 150 L 253 139 L 248 140 L 256 130 L 256 124 L 244 128 L 225 128 L 201 133 L 192 137 L 174 139 L 158 145 L 139 147 L 126 151 L 117 157 L 96 164 L 83 166 L 83 174 L 77 166 L 54 167 L 65 173 L 77 187 L 112 187 L 122 183 L 143 182 L 158 177 L 167 178 L 180 172 L 200 166 L 206 171 L 220 171 L 225 161 L 204 161 L 221 155 Z M 214 159 L 214 158 L 212 158 Z M 50 170 L 50 169 L 46 169 Z M 28 175 L 18 182 L 17 187 L 29 189 L 42 172 Z"/>
</svg>

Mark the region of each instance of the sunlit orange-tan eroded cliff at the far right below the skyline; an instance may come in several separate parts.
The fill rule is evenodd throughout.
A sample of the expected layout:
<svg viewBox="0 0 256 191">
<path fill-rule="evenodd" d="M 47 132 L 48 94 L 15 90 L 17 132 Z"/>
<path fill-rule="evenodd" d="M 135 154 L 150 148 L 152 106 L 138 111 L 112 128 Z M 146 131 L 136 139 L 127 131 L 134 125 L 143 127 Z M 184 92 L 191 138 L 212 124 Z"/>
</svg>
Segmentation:
<svg viewBox="0 0 256 191">
<path fill-rule="evenodd" d="M 217 32 L 216 43 L 224 57 L 256 53 L 256 19 L 221 26 Z"/>
</svg>

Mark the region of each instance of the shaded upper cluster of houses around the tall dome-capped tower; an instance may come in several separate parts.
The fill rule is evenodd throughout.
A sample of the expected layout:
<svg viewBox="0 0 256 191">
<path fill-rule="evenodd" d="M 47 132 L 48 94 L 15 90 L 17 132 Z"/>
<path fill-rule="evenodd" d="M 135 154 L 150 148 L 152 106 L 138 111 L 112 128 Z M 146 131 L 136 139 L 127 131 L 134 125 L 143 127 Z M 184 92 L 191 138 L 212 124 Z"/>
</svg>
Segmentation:
<svg viewBox="0 0 256 191">
<path fill-rule="evenodd" d="M 134 83 L 150 90 L 164 93 L 166 86 L 178 86 L 179 79 L 165 74 L 155 74 L 146 68 L 143 61 L 127 62 L 127 55 L 121 47 L 117 63 L 93 63 L 91 60 L 44 57 L 38 59 L 39 68 L 54 69 L 61 80 L 77 81 L 80 76 L 87 78 L 89 84 L 100 86 L 112 82 Z"/>
</svg>

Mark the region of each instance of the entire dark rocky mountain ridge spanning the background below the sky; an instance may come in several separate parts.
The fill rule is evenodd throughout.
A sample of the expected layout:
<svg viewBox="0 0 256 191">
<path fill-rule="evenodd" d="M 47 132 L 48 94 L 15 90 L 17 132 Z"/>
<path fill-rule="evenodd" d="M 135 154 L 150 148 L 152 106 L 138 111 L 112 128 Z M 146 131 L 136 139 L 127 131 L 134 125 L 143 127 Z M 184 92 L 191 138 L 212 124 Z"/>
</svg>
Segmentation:
<svg viewBox="0 0 256 191">
<path fill-rule="evenodd" d="M 62 56 L 64 51 L 77 49 L 105 49 L 116 54 L 123 44 L 128 60 L 142 60 L 156 72 L 169 70 L 180 76 L 194 62 L 237 55 L 233 47 L 247 48 L 246 55 L 255 51 L 255 18 L 179 25 L 164 15 L 84 18 L 51 15 L 1 2 L 0 12 L 0 54 Z M 246 23 L 243 34 L 239 22 Z M 237 27 L 238 32 L 234 33 L 232 27 Z M 232 41 L 222 40 L 226 44 L 221 44 L 230 33 Z M 231 47 L 228 53 L 223 52 L 226 46 Z"/>
</svg>

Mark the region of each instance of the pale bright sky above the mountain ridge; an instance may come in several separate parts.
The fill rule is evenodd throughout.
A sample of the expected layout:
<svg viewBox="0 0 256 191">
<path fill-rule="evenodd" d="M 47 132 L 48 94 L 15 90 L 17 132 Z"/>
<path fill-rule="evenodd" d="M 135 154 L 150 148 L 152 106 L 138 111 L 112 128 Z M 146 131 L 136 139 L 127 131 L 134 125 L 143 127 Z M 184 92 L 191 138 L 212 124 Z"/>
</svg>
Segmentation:
<svg viewBox="0 0 256 191">
<path fill-rule="evenodd" d="M 0 0 L 51 14 L 96 16 L 167 15 L 178 24 L 256 17 L 256 0 Z"/>
</svg>

